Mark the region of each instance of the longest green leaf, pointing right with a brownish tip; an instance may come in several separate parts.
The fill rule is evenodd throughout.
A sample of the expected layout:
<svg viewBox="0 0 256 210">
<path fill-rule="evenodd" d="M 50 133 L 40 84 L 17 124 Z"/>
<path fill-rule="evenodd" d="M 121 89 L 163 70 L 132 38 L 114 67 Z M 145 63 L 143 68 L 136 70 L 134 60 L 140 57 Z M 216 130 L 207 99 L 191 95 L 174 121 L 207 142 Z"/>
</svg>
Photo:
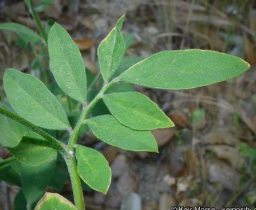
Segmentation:
<svg viewBox="0 0 256 210">
<path fill-rule="evenodd" d="M 190 89 L 236 77 L 249 64 L 230 54 L 199 49 L 163 51 L 121 74 L 121 81 L 161 89 Z"/>
</svg>

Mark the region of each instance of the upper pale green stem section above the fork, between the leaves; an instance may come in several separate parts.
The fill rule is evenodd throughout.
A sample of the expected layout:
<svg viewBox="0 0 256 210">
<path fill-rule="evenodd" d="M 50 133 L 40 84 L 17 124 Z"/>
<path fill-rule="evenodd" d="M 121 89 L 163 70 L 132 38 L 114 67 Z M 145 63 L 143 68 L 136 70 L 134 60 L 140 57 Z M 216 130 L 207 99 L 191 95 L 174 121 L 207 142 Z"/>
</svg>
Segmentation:
<svg viewBox="0 0 256 210">
<path fill-rule="evenodd" d="M 77 124 L 75 125 L 74 131 L 70 134 L 70 140 L 68 140 L 68 149 L 74 151 L 74 145 L 78 138 L 79 131 L 82 127 L 82 125 L 85 123 L 85 118 L 87 117 L 87 114 L 91 111 L 93 106 L 102 98 L 106 90 L 110 88 L 110 86 L 114 85 L 114 83 L 117 82 L 117 79 L 113 79 L 110 81 L 110 83 L 104 84 L 100 92 L 93 98 L 93 100 L 83 108 L 83 112 L 81 113 L 81 116 L 79 117 L 79 120 Z"/>
</svg>

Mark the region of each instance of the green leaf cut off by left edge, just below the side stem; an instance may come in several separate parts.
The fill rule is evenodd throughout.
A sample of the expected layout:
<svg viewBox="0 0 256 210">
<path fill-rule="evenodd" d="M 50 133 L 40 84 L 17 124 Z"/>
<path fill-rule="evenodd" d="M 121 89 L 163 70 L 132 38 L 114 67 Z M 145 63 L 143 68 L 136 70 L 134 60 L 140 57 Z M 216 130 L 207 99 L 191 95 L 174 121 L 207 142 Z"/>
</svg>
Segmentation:
<svg viewBox="0 0 256 210">
<path fill-rule="evenodd" d="M 6 147 L 15 147 L 20 143 L 23 135 L 30 131 L 14 119 L 0 115 L 0 144 Z"/>
</svg>

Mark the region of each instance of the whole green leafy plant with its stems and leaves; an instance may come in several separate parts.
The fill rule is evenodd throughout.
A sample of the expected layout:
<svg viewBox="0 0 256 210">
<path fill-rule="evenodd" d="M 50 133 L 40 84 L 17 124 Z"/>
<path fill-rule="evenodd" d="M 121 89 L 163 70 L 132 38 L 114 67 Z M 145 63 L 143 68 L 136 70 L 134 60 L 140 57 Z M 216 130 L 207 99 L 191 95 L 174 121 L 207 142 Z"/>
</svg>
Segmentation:
<svg viewBox="0 0 256 210">
<path fill-rule="evenodd" d="M 173 127 L 173 122 L 154 102 L 140 93 L 116 93 L 116 89 L 112 89 L 106 94 L 116 83 L 158 89 L 191 89 L 236 77 L 249 68 L 249 64 L 238 57 L 199 49 L 163 51 L 131 65 L 128 70 L 120 68 L 126 49 L 121 33 L 122 16 L 98 46 L 98 62 L 104 84 L 96 96 L 92 96 L 91 89 L 100 75 L 87 87 L 89 76 L 70 35 L 56 23 L 47 35 L 31 1 L 26 3 L 47 43 L 54 79 L 66 98 L 72 98 L 68 102 L 69 109 L 72 109 L 72 102 L 82 106 L 82 111 L 78 112 L 79 119 L 72 126 L 58 97 L 39 79 L 14 69 L 6 70 L 4 89 L 11 106 L 2 103 L 0 107 L 0 143 L 9 149 L 13 158 L 0 162 L 0 178 L 22 186 L 16 201 L 25 198 L 27 209 L 32 209 L 45 187 L 51 185 L 53 173 L 60 170 L 57 167 L 62 158 L 72 181 L 75 205 L 58 194 L 48 193 L 35 209 L 52 209 L 53 206 L 58 209 L 85 209 L 80 179 L 94 190 L 106 194 L 111 181 L 108 162 L 100 152 L 77 144 L 85 125 L 96 137 L 112 146 L 158 152 L 150 130 Z M 0 29 L 12 30 L 24 41 L 42 40 L 25 26 L 14 23 L 0 24 Z M 28 35 L 30 39 L 27 39 Z M 88 118 L 100 99 L 110 114 Z M 61 131 L 68 133 L 66 143 L 58 138 Z M 54 167 L 57 170 L 54 171 Z"/>
</svg>

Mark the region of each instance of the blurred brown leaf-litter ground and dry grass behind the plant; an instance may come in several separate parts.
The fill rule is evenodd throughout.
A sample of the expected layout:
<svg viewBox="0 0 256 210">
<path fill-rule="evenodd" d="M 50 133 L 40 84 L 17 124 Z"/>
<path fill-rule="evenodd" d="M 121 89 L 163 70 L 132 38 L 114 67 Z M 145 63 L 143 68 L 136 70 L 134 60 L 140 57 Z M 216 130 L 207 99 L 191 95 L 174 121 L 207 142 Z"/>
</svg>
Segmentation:
<svg viewBox="0 0 256 210">
<path fill-rule="evenodd" d="M 254 207 L 256 1 L 53 0 L 39 11 L 43 26 L 56 21 L 68 30 L 92 75 L 98 72 L 100 41 L 123 14 L 122 32 L 131 45 L 126 56 L 146 58 L 164 50 L 211 49 L 239 56 L 251 69 L 236 79 L 187 91 L 135 85 L 133 89 L 156 102 L 176 127 L 153 131 L 159 154 L 102 145 L 90 131 L 82 135 L 79 142 L 100 150 L 113 173 L 107 196 L 85 186 L 87 209 Z M 18 22 L 37 31 L 23 1 L 1 0 L 0 22 Z M 6 100 L 6 68 L 30 72 L 51 85 L 48 62 L 44 45 L 24 45 L 14 33 L 0 31 L 1 100 Z M 1 148 L 0 156 L 8 158 L 10 154 Z M 1 186 L 1 202 L 9 202 L 13 209 L 19 188 L 6 183 Z M 62 190 L 49 187 L 47 191 L 72 200 L 68 179 Z"/>
</svg>

